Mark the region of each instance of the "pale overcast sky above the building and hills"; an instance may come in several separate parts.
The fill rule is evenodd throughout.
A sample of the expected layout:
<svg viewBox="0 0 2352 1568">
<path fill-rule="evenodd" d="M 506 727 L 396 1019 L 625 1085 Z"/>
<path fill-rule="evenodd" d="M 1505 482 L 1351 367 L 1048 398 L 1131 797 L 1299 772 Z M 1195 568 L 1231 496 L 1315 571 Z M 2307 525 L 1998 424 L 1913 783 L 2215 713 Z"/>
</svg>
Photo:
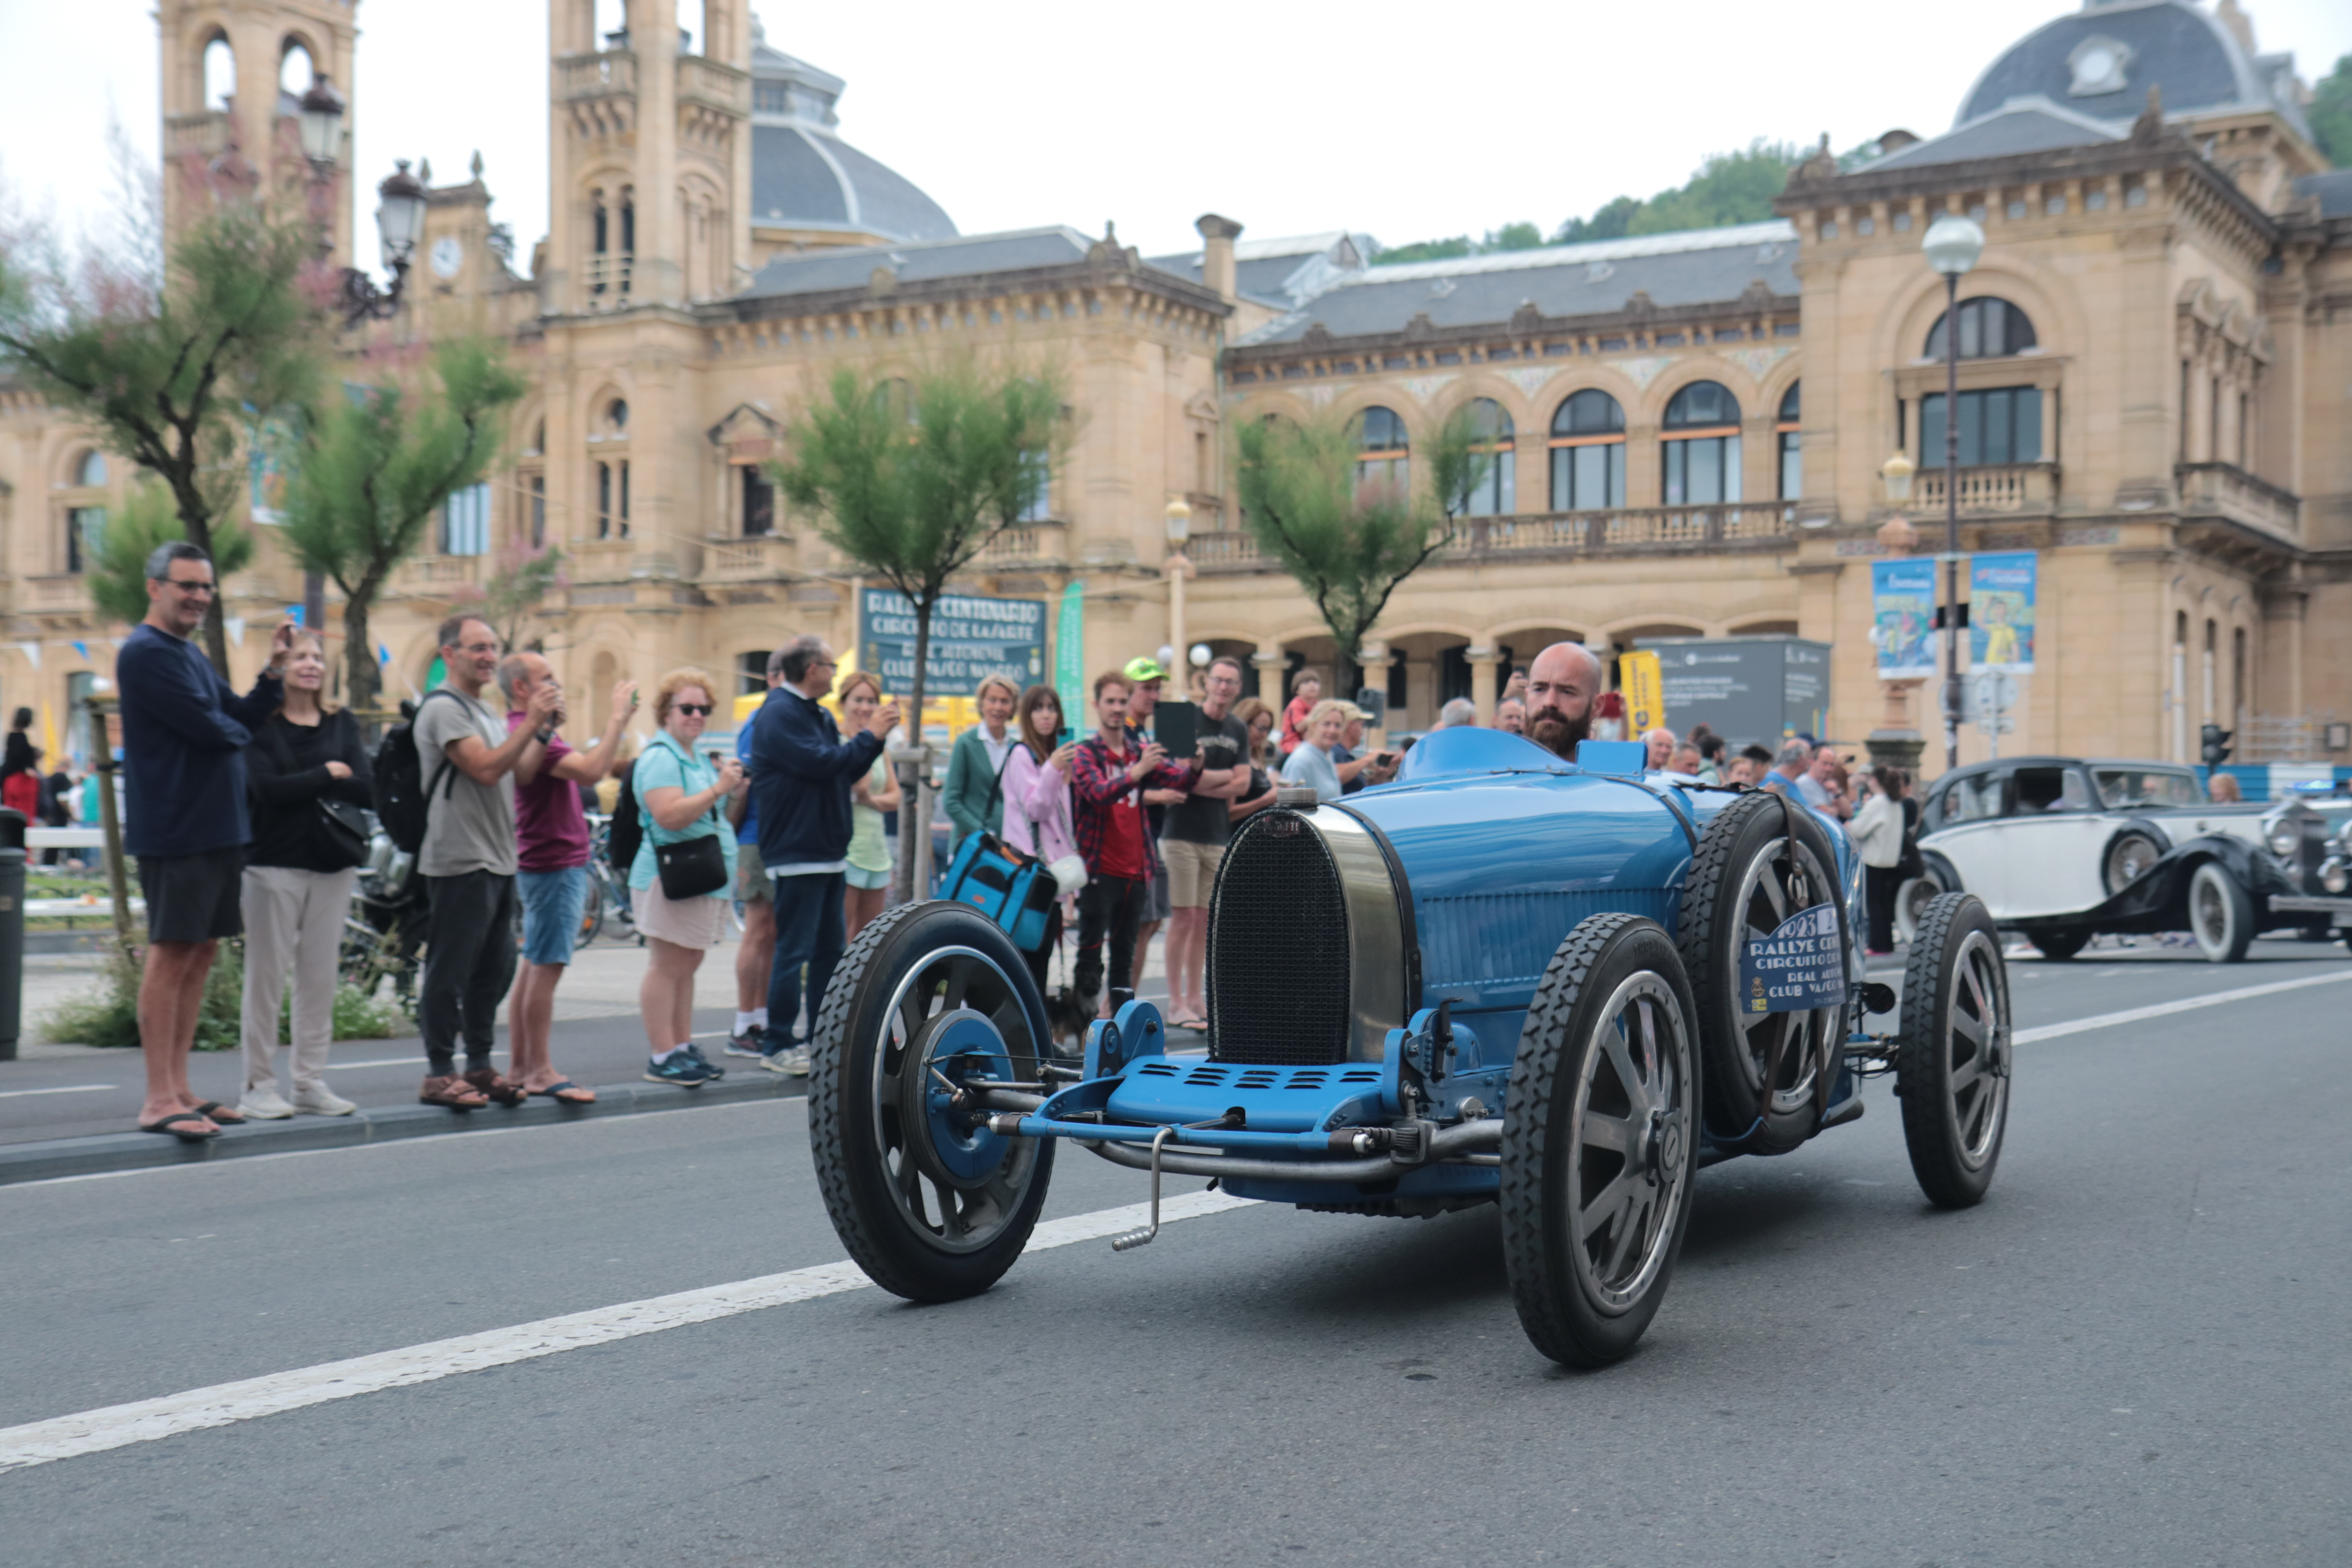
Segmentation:
<svg viewBox="0 0 2352 1568">
<path fill-rule="evenodd" d="M 903 0 L 767 5 L 769 42 L 849 82 L 842 136 L 964 233 L 1070 223 L 1145 254 L 1223 212 L 1244 237 L 1369 230 L 1385 244 L 1545 230 L 1679 183 L 1755 136 L 1846 148 L 1933 134 L 1994 54 L 2063 0 L 1903 5 L 1289 5 Z M 2352 2 L 2253 0 L 2258 45 L 2305 80 L 2352 52 Z M 480 150 L 517 261 L 546 233 L 543 0 L 362 0 L 362 249 L 393 158 L 435 183 Z M 0 0 L 0 181 L 85 221 L 115 113 L 158 141 L 153 0 Z"/>
</svg>

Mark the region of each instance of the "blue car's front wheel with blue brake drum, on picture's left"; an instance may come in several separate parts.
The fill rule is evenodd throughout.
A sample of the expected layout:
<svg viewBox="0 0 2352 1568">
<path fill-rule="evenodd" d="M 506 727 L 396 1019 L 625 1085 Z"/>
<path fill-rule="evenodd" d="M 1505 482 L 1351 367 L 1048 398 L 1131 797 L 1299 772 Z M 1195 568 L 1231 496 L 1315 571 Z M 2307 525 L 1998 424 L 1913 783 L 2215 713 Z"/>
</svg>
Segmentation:
<svg viewBox="0 0 2352 1568">
<path fill-rule="evenodd" d="M 978 1295 L 1028 1246 L 1054 1143 L 990 1133 L 950 1093 L 971 1072 L 1035 1081 L 1044 1034 L 1021 954 L 962 905 L 887 910 L 842 957 L 809 1041 L 809 1150 L 842 1246 L 884 1291 Z"/>
</svg>

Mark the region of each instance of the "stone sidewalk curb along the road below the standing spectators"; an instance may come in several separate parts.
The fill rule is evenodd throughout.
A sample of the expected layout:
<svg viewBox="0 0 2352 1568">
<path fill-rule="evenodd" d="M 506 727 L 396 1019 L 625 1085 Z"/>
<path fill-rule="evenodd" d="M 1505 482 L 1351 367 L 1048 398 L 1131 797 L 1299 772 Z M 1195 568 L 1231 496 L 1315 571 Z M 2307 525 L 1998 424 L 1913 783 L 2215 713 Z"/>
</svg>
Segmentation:
<svg viewBox="0 0 2352 1568">
<path fill-rule="evenodd" d="M 557 1126 L 602 1117 L 694 1110 L 696 1105 L 739 1105 L 743 1100 L 797 1100 L 809 1079 L 779 1077 L 753 1063 L 746 1077 L 727 1077 L 701 1088 L 661 1084 L 593 1084 L 595 1105 L 489 1105 L 475 1112 L 452 1112 L 437 1105 L 393 1105 L 360 1110 L 348 1117 L 294 1117 L 292 1121 L 247 1121 L 223 1128 L 205 1143 L 181 1143 L 160 1133 L 99 1133 L 94 1138 L 42 1138 L 0 1145 L 0 1185 L 40 1182 L 59 1175 L 101 1175 L 108 1171 L 146 1171 L 153 1166 L 195 1166 L 212 1159 L 247 1154 L 287 1154 L 296 1150 L 348 1150 L 362 1143 L 400 1138 L 449 1138 L 513 1126 Z"/>
</svg>

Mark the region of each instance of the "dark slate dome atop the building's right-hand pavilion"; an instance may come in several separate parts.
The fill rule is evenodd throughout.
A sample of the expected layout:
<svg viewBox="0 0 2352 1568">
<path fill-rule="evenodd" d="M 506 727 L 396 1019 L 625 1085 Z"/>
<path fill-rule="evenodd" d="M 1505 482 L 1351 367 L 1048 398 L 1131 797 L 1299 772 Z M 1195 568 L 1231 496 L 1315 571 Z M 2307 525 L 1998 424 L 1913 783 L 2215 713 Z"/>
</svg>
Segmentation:
<svg viewBox="0 0 2352 1568">
<path fill-rule="evenodd" d="M 2244 26 L 2241 16 L 2234 21 Z M 2013 99 L 2046 99 L 2124 127 L 2147 106 L 2150 87 L 2161 94 L 2166 120 L 2270 110 L 2310 139 L 2293 59 L 2253 56 L 2230 21 L 2187 0 L 2091 0 L 2034 28 L 1976 78 L 1955 125 L 1992 115 Z"/>
</svg>

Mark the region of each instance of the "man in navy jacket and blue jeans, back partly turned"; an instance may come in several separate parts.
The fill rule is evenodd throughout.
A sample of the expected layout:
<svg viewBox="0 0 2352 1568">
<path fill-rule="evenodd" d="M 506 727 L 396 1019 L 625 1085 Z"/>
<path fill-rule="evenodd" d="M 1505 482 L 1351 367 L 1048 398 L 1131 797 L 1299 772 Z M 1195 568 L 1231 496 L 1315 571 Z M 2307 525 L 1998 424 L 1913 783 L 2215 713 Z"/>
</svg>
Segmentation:
<svg viewBox="0 0 2352 1568">
<path fill-rule="evenodd" d="M 842 738 L 816 698 L 837 668 L 821 637 L 795 637 L 776 654 L 783 682 L 750 717 L 750 788 L 760 818 L 760 860 L 776 879 L 776 964 L 767 976 L 771 1072 L 807 1074 L 809 1048 L 793 1044 L 800 966 L 809 966 L 809 1027 L 826 1006 L 826 983 L 842 961 L 842 891 L 849 870 L 849 785 L 882 755 L 898 703 L 882 703 L 863 733 Z"/>
</svg>

